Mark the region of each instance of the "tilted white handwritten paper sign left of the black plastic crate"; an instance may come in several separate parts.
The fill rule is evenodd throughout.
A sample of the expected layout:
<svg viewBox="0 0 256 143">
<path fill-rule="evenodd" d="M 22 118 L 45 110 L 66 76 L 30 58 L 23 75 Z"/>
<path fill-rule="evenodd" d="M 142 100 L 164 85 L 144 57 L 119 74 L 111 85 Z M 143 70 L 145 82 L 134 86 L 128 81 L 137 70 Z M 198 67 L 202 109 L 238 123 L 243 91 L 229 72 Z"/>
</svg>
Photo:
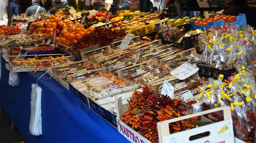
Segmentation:
<svg viewBox="0 0 256 143">
<path fill-rule="evenodd" d="M 176 75 L 175 77 L 177 77 L 181 80 L 184 80 L 184 79 L 188 78 L 189 76 L 195 74 L 198 70 L 199 70 L 198 67 L 191 65 L 188 62 L 185 62 L 177 69 L 171 71 L 170 74 Z"/>
</svg>

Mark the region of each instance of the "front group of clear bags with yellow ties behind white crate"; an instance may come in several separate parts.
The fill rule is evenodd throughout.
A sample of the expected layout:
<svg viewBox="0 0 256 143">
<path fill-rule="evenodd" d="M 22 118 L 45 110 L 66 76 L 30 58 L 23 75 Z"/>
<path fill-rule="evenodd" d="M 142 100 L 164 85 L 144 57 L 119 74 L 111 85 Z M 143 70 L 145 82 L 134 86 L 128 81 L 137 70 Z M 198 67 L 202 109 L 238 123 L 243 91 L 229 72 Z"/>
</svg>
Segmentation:
<svg viewBox="0 0 256 143">
<path fill-rule="evenodd" d="M 206 101 L 202 102 L 201 109 L 207 110 L 214 107 L 229 105 L 232 110 L 234 134 L 247 141 L 255 140 L 255 105 L 256 92 L 255 81 L 245 66 L 241 66 L 239 73 L 233 76 L 231 81 L 223 82 L 223 75 L 216 81 L 210 81 L 207 87 L 209 91 L 202 90 Z M 212 84 L 213 83 L 213 84 Z M 206 85 L 204 85 L 205 87 Z M 210 119 L 222 120 L 222 113 L 208 115 Z"/>
</svg>

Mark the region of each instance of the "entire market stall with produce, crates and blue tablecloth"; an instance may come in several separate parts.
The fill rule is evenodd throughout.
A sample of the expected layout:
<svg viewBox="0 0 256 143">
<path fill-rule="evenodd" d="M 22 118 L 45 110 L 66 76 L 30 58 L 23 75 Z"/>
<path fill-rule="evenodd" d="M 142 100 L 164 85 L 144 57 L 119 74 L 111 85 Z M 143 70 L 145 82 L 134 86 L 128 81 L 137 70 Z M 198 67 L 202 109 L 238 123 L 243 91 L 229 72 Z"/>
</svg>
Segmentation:
<svg viewBox="0 0 256 143">
<path fill-rule="evenodd" d="M 256 30 L 245 14 L 81 2 L 0 26 L 0 103 L 28 142 L 255 142 Z"/>
</svg>

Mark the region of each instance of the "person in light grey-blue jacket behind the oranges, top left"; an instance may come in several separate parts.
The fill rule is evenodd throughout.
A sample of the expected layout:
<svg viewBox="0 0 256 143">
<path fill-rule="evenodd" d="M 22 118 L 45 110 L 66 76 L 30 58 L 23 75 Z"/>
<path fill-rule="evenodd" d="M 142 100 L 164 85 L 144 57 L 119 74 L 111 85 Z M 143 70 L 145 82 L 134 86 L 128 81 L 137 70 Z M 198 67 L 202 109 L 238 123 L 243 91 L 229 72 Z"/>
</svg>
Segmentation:
<svg viewBox="0 0 256 143">
<path fill-rule="evenodd" d="M 45 8 L 39 6 L 39 0 L 32 0 L 32 6 L 28 7 L 26 10 L 26 15 L 31 16 L 33 14 L 47 12 Z"/>
</svg>

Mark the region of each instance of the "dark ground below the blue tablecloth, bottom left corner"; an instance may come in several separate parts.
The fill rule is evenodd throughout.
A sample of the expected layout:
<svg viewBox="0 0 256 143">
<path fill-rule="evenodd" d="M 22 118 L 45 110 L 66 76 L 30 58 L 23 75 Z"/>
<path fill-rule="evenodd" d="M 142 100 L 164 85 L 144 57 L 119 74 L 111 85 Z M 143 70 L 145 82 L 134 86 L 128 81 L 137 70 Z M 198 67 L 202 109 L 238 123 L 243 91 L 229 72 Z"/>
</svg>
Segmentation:
<svg viewBox="0 0 256 143">
<path fill-rule="evenodd" d="M 14 127 L 11 129 L 11 121 L 0 105 L 0 142 L 1 143 L 26 143 L 19 130 Z"/>
</svg>

